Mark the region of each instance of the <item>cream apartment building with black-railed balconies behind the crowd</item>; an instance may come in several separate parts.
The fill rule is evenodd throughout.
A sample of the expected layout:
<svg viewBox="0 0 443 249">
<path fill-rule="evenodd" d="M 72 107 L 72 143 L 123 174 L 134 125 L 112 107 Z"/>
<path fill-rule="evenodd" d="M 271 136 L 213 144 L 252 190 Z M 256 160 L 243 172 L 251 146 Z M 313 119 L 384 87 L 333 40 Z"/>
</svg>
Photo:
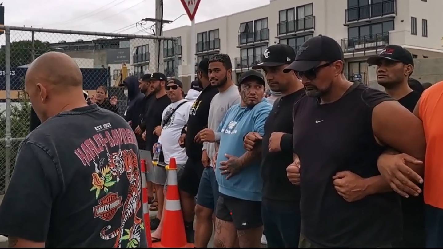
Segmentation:
<svg viewBox="0 0 443 249">
<path fill-rule="evenodd" d="M 443 57 L 442 0 L 271 0 L 268 5 L 163 32 L 180 37 L 179 75 L 183 82 L 195 73 L 191 64 L 213 54 L 229 54 L 234 80 L 260 63 L 266 47 L 285 43 L 295 51 L 316 35 L 328 35 L 342 45 L 346 75 L 366 84 L 376 78 L 366 58 L 388 44 L 405 47 L 415 58 Z M 165 71 L 173 68 L 172 43 L 163 44 Z M 191 46 L 196 53 L 191 54 Z M 167 52 L 165 52 L 167 51 Z M 168 53 L 171 51 L 171 53 Z"/>
</svg>

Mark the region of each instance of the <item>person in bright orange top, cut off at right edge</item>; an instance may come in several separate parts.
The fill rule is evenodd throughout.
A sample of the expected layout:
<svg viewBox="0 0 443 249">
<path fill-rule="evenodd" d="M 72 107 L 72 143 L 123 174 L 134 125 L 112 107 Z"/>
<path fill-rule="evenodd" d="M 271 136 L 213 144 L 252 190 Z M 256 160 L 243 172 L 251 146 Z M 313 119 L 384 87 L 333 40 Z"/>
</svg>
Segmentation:
<svg viewBox="0 0 443 249">
<path fill-rule="evenodd" d="M 424 91 L 414 114 L 423 121 L 427 149 L 424 170 L 424 202 L 426 247 L 443 247 L 443 198 L 441 154 L 443 145 L 443 82 L 435 83 Z"/>
</svg>

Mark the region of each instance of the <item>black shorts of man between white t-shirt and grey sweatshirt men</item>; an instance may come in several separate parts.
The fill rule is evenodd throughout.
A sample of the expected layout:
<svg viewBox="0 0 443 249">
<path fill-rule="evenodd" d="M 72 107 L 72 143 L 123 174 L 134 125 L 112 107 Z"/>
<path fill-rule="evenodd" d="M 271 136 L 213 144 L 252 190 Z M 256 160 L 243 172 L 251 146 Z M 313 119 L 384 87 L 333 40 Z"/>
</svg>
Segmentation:
<svg viewBox="0 0 443 249">
<path fill-rule="evenodd" d="M 202 160 L 192 160 L 188 158 L 183 169 L 182 178 L 179 180 L 179 190 L 184 191 L 192 196 L 196 196 L 198 192 L 198 184 L 203 173 Z"/>
</svg>

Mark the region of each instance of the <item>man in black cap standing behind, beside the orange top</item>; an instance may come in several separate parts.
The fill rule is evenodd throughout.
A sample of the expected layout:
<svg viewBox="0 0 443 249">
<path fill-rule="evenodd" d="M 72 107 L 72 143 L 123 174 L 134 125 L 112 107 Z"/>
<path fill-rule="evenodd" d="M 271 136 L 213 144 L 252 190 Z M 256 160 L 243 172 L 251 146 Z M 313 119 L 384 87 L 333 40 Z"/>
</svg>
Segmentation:
<svg viewBox="0 0 443 249">
<path fill-rule="evenodd" d="M 385 87 L 386 93 L 396 99 L 411 113 L 423 92 L 411 89 L 408 80 L 414 70 L 412 54 L 397 45 L 389 45 L 379 55 L 368 58 L 369 66 L 377 65 L 377 82 Z M 416 81 L 416 80 L 415 80 Z M 423 189 L 423 185 L 418 187 Z M 401 198 L 403 211 L 403 240 L 395 246 L 399 247 L 425 247 L 424 234 L 424 199 L 423 193 L 418 197 Z"/>
</svg>

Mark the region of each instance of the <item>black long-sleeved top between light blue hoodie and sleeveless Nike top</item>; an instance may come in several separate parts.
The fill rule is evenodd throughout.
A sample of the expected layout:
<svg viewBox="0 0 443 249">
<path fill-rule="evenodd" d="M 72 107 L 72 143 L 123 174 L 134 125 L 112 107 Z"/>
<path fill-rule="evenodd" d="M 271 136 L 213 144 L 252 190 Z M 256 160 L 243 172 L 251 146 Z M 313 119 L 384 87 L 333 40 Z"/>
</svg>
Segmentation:
<svg viewBox="0 0 443 249">
<path fill-rule="evenodd" d="M 269 138 L 272 132 L 284 132 L 289 136 L 282 137 L 280 144 L 292 143 L 292 109 L 295 101 L 304 94 L 304 89 L 280 97 L 274 103 L 271 113 L 264 124 L 264 136 L 261 150 L 261 177 L 263 178 L 263 198 L 279 201 L 300 201 L 300 187 L 293 185 L 287 176 L 286 168 L 294 159 L 292 146 L 288 151 L 269 152 Z"/>
</svg>

